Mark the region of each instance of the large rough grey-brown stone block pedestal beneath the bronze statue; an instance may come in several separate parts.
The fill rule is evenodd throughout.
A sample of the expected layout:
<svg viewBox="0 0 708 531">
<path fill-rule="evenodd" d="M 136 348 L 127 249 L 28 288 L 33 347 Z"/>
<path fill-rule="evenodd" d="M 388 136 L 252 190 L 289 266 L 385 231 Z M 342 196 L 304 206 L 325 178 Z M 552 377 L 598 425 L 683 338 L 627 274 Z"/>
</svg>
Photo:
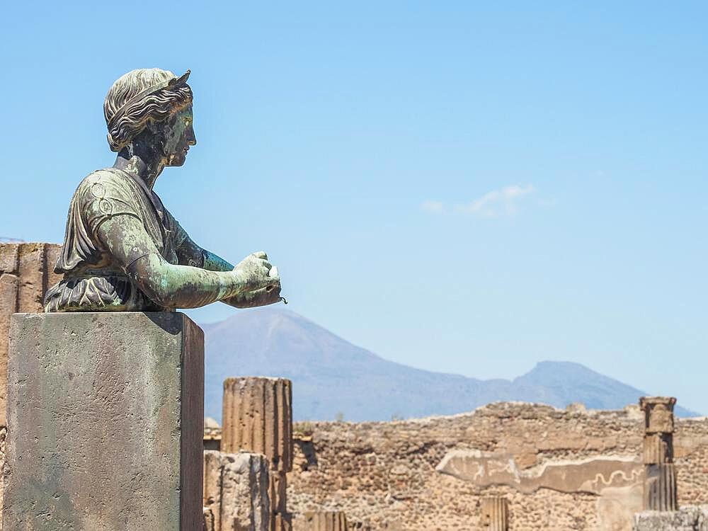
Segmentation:
<svg viewBox="0 0 708 531">
<path fill-rule="evenodd" d="M 4 531 L 203 526 L 204 336 L 164 313 L 15 314 Z"/>
</svg>

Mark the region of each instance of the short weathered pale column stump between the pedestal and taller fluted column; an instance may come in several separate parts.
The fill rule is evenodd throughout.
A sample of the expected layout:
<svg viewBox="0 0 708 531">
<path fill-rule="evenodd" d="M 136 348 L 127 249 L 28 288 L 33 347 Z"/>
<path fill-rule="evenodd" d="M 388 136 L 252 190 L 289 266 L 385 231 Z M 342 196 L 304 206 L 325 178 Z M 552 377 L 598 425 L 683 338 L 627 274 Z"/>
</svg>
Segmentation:
<svg viewBox="0 0 708 531">
<path fill-rule="evenodd" d="M 261 454 L 204 452 L 205 508 L 214 531 L 270 530 L 268 460 Z"/>
</svg>

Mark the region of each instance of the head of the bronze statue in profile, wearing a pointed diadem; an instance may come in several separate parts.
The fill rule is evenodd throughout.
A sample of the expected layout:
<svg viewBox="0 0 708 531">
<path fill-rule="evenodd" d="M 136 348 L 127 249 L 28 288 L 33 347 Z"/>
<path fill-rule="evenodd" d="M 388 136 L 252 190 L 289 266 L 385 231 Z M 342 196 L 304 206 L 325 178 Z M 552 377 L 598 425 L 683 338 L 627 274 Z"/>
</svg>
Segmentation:
<svg viewBox="0 0 708 531">
<path fill-rule="evenodd" d="M 120 152 L 134 142 L 156 150 L 165 166 L 182 166 L 197 143 L 192 126 L 189 71 L 137 69 L 118 78 L 103 102 L 108 145 Z"/>
</svg>

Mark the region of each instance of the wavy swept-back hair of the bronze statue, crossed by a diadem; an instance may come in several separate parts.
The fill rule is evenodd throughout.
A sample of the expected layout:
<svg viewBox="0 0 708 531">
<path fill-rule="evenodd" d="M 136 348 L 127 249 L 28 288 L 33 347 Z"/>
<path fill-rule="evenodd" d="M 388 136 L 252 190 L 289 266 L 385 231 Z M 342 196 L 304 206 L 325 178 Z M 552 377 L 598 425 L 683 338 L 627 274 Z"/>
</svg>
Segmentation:
<svg viewBox="0 0 708 531">
<path fill-rule="evenodd" d="M 169 70 L 142 68 L 120 76 L 108 90 L 103 102 L 105 123 L 137 93 L 154 84 L 174 78 Z M 184 84 L 176 89 L 162 89 L 131 103 L 123 115 L 108 128 L 108 145 L 113 152 L 119 152 L 130 144 L 150 122 L 161 122 L 192 101 L 192 89 Z"/>
</svg>

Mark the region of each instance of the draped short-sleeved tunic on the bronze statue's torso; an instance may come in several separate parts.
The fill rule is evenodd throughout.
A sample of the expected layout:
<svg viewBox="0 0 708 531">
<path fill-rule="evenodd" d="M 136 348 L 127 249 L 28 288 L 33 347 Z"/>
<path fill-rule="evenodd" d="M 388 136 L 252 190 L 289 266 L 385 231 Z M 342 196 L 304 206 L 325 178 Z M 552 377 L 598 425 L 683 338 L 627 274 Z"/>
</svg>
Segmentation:
<svg viewBox="0 0 708 531">
<path fill-rule="evenodd" d="M 45 312 L 160 312 L 125 272 L 101 239 L 98 229 L 111 217 L 128 215 L 142 222 L 161 256 L 177 264 L 177 249 L 187 233 L 154 191 L 137 176 L 103 169 L 86 176 L 69 205 L 67 232 L 55 273 L 64 278 L 45 295 Z M 131 250 L 125 266 L 145 256 Z"/>
</svg>

